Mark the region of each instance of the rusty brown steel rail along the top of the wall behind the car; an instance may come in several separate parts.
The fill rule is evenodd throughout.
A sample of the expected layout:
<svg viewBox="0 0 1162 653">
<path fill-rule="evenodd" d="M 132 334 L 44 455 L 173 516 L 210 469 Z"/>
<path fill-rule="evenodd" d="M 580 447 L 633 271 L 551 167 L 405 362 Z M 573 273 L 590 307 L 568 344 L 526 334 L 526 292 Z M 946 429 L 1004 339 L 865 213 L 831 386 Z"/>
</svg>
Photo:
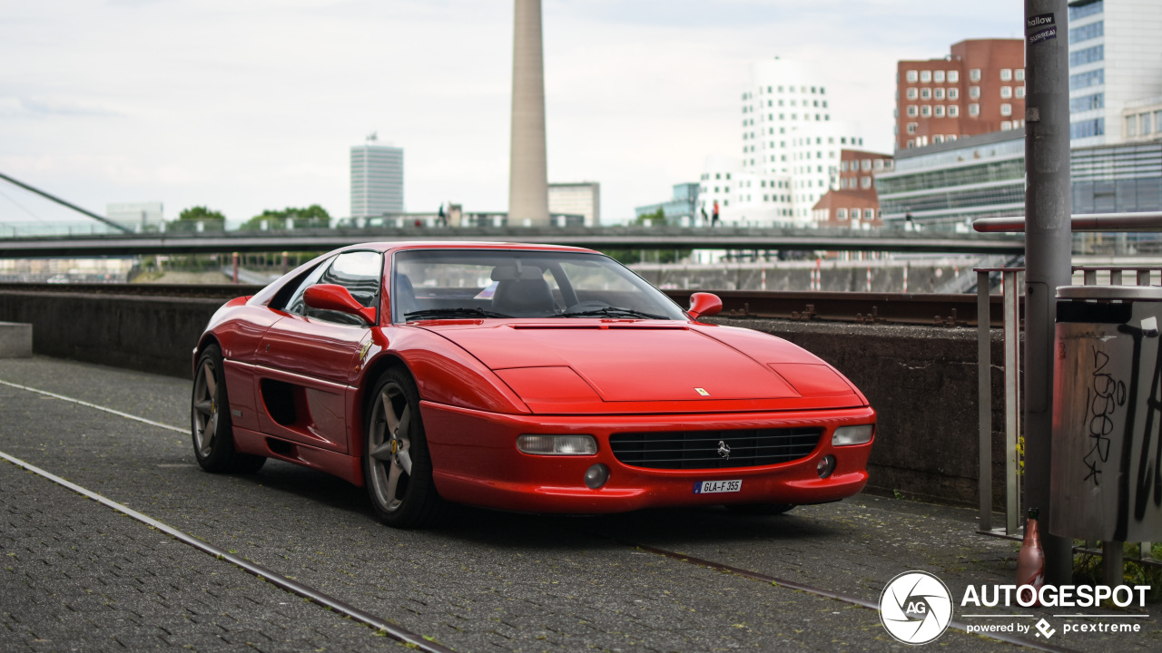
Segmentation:
<svg viewBox="0 0 1162 653">
<path fill-rule="evenodd" d="M 220 299 L 252 295 L 263 286 L 215 284 L 0 284 L 0 292 L 80 293 L 160 297 Z M 681 306 L 697 289 L 664 290 Z M 715 290 L 723 317 L 975 326 L 976 294 Z M 992 326 L 1000 326 L 1000 295 L 991 295 Z"/>
</svg>

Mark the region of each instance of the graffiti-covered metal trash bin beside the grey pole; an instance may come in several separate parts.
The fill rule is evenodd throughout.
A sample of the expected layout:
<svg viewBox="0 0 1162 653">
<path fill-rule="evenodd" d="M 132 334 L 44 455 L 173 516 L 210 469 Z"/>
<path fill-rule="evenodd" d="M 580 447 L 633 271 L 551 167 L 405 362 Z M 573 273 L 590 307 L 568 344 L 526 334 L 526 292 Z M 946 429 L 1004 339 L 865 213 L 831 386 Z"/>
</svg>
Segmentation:
<svg viewBox="0 0 1162 653">
<path fill-rule="evenodd" d="M 1162 539 L 1162 288 L 1057 288 L 1049 531 Z"/>
</svg>

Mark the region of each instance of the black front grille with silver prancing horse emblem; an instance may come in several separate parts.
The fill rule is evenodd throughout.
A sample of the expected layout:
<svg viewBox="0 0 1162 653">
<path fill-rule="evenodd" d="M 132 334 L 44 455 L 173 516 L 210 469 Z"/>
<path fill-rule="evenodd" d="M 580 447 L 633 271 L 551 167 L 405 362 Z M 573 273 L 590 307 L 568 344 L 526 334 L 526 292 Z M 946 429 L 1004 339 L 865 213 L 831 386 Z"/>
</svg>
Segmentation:
<svg viewBox="0 0 1162 653">
<path fill-rule="evenodd" d="M 806 458 L 823 429 L 745 429 L 732 431 L 654 431 L 614 433 L 614 455 L 633 467 L 651 469 L 722 469 L 761 467 Z M 719 453 L 720 445 L 730 457 Z"/>
</svg>

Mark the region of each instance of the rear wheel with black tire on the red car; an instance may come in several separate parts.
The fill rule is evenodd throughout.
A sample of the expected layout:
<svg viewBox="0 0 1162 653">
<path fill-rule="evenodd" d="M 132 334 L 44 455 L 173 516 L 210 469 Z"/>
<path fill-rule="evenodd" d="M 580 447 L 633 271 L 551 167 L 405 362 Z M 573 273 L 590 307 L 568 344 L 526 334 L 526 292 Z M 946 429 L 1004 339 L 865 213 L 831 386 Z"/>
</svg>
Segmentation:
<svg viewBox="0 0 1162 653">
<path fill-rule="evenodd" d="M 230 399 L 225 392 L 222 349 L 217 345 L 209 345 L 198 358 L 194 393 L 189 400 L 189 421 L 194 457 L 202 469 L 215 474 L 250 474 L 266 462 L 266 458 L 261 455 L 238 453 L 234 449 Z"/>
</svg>

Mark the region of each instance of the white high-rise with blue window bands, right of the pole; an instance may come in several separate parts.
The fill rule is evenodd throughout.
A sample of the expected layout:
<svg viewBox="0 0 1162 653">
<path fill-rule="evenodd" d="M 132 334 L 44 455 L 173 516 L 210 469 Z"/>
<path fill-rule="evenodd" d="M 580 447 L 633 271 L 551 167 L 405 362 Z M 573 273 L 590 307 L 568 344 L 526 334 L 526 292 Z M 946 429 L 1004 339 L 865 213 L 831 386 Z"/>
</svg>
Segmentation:
<svg viewBox="0 0 1162 653">
<path fill-rule="evenodd" d="M 1133 109 L 1162 105 L 1160 33 L 1159 0 L 1069 2 L 1073 146 L 1111 145 L 1159 131 L 1153 112 Z"/>
</svg>

